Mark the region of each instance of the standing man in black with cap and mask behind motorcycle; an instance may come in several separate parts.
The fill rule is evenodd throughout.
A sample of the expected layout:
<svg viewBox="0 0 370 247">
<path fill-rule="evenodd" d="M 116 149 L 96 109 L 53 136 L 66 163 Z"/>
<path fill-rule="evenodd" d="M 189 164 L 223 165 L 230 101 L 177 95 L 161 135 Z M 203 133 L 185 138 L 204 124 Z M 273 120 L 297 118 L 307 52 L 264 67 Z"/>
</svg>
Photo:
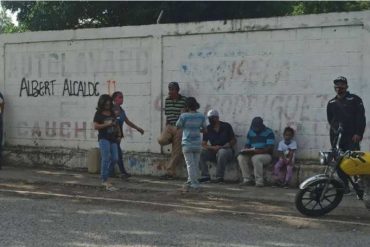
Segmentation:
<svg viewBox="0 0 370 247">
<path fill-rule="evenodd" d="M 330 125 L 330 143 L 333 146 L 336 131 L 342 126 L 342 138 L 339 148 L 346 150 L 360 150 L 360 142 L 365 132 L 366 117 L 362 99 L 347 91 L 347 78 L 339 76 L 334 80 L 336 96 L 329 100 L 326 111 Z M 345 174 L 338 169 L 338 176 L 345 186 L 345 193 L 349 193 L 349 183 Z"/>
</svg>

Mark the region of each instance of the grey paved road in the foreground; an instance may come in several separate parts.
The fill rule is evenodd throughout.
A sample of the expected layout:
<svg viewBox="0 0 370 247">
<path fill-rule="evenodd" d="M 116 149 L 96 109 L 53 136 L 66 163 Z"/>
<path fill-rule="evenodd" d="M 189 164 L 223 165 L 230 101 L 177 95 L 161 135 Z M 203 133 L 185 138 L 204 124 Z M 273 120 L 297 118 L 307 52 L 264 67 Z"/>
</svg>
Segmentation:
<svg viewBox="0 0 370 247">
<path fill-rule="evenodd" d="M 309 219 L 292 205 L 206 193 L 8 183 L 0 188 L 0 246 L 370 246 L 366 213 Z"/>
</svg>

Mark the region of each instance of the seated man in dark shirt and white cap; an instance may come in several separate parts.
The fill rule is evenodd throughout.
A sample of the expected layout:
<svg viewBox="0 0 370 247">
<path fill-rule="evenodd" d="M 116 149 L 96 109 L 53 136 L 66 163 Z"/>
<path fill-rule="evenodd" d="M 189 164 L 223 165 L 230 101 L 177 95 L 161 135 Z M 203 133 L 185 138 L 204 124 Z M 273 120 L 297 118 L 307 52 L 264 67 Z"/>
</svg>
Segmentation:
<svg viewBox="0 0 370 247">
<path fill-rule="evenodd" d="M 199 162 L 202 177 L 199 182 L 211 180 L 207 161 L 213 161 L 216 162 L 217 170 L 216 178 L 212 182 L 220 183 L 224 180 L 226 164 L 234 158 L 233 146 L 236 139 L 231 125 L 220 121 L 216 110 L 208 111 L 207 117 L 210 124 L 207 126 L 207 133 L 203 135 Z"/>
</svg>

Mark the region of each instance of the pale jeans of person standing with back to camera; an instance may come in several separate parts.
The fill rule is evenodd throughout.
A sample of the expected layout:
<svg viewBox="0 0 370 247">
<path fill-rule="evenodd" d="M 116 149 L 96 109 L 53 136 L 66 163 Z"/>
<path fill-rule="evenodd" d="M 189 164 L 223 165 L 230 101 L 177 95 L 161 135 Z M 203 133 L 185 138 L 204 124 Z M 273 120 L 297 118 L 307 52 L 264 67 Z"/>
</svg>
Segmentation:
<svg viewBox="0 0 370 247">
<path fill-rule="evenodd" d="M 186 168 L 188 170 L 188 182 L 190 183 L 190 187 L 198 188 L 198 167 L 199 167 L 199 159 L 200 159 L 200 150 L 186 150 L 182 149 L 184 154 Z"/>
</svg>

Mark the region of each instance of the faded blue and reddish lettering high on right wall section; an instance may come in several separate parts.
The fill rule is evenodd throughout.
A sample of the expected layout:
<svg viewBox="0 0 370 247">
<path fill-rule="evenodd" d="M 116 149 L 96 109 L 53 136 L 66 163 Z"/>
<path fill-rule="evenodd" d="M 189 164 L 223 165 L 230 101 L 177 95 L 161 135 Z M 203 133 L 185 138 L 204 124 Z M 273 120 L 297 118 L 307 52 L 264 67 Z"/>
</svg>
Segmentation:
<svg viewBox="0 0 370 247">
<path fill-rule="evenodd" d="M 275 86 L 289 77 L 290 62 L 271 52 L 253 54 L 246 47 L 221 42 L 190 50 L 180 64 L 189 80 L 207 82 L 214 89 L 227 90 L 235 82 L 249 86 Z"/>
</svg>

